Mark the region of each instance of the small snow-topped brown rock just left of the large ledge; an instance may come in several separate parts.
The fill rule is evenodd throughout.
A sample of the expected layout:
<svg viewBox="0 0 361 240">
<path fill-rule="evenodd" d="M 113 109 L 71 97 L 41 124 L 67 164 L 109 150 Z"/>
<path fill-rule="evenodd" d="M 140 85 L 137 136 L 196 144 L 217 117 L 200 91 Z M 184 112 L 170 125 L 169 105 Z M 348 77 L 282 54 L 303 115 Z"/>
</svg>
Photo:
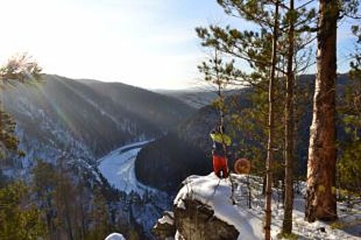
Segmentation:
<svg viewBox="0 0 361 240">
<path fill-rule="evenodd" d="M 175 224 L 173 212 L 165 211 L 161 219 L 158 219 L 157 224 L 152 231 L 158 239 L 172 239 L 175 236 Z"/>
</svg>

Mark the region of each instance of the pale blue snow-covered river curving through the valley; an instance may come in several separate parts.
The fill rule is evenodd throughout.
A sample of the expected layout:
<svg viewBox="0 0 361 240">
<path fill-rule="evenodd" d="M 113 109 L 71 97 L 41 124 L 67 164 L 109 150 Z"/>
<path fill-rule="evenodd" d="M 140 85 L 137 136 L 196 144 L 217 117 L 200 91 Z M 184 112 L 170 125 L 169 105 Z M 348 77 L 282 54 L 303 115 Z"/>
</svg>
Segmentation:
<svg viewBox="0 0 361 240">
<path fill-rule="evenodd" d="M 142 141 L 119 147 L 98 160 L 99 170 L 110 185 L 127 193 L 136 191 L 140 195 L 145 191 L 153 191 L 150 187 L 138 182 L 134 166 L 140 149 L 151 141 Z"/>
</svg>

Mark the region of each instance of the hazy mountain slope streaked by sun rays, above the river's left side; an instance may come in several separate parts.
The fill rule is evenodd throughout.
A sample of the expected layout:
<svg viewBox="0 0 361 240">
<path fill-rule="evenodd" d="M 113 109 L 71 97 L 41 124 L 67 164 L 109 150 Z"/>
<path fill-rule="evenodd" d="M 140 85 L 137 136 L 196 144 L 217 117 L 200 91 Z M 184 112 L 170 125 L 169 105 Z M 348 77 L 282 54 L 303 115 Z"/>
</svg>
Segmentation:
<svg viewBox="0 0 361 240">
<path fill-rule="evenodd" d="M 52 161 L 62 152 L 97 159 L 112 149 L 172 130 L 195 110 L 173 97 L 119 82 L 44 75 L 35 86 L 3 92 L 27 157 Z"/>
</svg>

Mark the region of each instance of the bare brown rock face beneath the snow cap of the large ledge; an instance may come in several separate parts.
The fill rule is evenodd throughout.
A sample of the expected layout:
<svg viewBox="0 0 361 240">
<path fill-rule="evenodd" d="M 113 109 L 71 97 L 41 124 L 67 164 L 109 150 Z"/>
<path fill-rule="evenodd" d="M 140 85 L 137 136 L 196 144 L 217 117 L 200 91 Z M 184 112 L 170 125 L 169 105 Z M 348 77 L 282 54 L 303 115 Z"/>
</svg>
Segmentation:
<svg viewBox="0 0 361 240">
<path fill-rule="evenodd" d="M 232 240 L 239 232 L 214 216 L 214 211 L 197 200 L 183 200 L 184 208 L 174 207 L 175 228 L 184 239 Z"/>
</svg>

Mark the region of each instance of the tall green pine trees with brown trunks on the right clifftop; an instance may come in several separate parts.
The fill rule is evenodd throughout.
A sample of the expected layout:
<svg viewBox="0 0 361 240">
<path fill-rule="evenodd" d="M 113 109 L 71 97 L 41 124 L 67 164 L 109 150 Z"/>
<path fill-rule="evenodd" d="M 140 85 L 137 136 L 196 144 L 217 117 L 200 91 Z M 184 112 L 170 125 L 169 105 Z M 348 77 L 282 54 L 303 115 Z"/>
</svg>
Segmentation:
<svg viewBox="0 0 361 240">
<path fill-rule="evenodd" d="M 358 1 L 319 1 L 319 10 L 310 8 L 312 1 L 218 1 L 231 16 L 247 19 L 259 31 L 239 31 L 231 27 L 198 27 L 203 47 L 213 52 L 199 67 L 205 80 L 219 88 L 217 107 L 226 110 L 222 90 L 229 85 L 252 86 L 253 108 L 232 116 L 234 128 L 246 128 L 247 136 L 263 147 L 245 147 L 250 158 L 266 154 L 266 161 L 253 167 L 265 176 L 265 239 L 270 239 L 271 192 L 273 178 L 284 184 L 284 220 L 282 234 L 292 232 L 293 169 L 299 159 L 295 154 L 300 141 L 299 112 L 305 114 L 310 88 L 300 75 L 316 65 L 312 99 L 306 176 L 307 221 L 337 218 L 336 201 L 360 197 L 360 15 Z M 297 5 L 295 5 L 297 4 Z M 351 26 L 357 38 L 351 53 L 350 81 L 336 91 L 337 29 L 343 18 L 358 19 Z M 316 40 L 316 56 L 309 45 Z M 222 59 L 224 56 L 225 59 Z M 252 68 L 247 73 L 237 68 L 246 60 Z M 338 93 L 338 95 L 336 95 Z M 340 125 L 342 139 L 336 139 Z M 308 126 L 307 126 L 308 127 Z M 301 131 L 304 131 L 301 130 Z M 339 134 L 340 135 L 340 134 Z M 264 152 L 260 152 L 264 149 Z M 264 159 L 264 158 L 258 158 Z M 282 176 L 282 178 L 280 178 Z"/>
</svg>

